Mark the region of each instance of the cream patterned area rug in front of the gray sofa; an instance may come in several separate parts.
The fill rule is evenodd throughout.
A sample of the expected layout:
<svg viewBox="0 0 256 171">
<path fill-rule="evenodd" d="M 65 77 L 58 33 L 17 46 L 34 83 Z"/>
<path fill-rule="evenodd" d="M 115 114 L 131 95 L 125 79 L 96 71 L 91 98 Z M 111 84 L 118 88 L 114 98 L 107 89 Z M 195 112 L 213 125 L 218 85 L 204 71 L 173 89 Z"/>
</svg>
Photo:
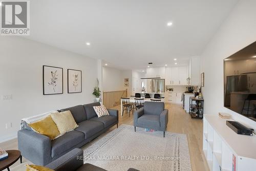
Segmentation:
<svg viewBox="0 0 256 171">
<path fill-rule="evenodd" d="M 138 170 L 190 171 L 186 135 L 146 132 L 131 125 L 121 125 L 108 134 L 83 146 L 84 163 L 109 171 Z"/>
</svg>

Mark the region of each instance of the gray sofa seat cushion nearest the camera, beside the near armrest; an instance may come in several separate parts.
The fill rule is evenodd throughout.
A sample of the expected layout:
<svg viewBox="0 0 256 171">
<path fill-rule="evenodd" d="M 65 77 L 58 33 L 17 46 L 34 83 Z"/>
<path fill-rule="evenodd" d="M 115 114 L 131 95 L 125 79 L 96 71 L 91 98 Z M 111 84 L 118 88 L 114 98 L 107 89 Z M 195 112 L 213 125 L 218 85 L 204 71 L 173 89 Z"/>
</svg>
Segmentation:
<svg viewBox="0 0 256 171">
<path fill-rule="evenodd" d="M 58 156 L 84 140 L 84 134 L 70 131 L 52 141 L 52 157 Z"/>
</svg>

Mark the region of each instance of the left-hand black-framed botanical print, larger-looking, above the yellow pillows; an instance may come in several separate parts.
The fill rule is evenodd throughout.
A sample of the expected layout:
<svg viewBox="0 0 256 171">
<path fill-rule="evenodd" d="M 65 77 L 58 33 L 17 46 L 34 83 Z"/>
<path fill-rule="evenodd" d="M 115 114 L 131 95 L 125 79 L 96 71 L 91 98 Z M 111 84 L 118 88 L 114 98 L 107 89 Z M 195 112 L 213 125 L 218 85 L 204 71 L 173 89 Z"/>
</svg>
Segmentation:
<svg viewBox="0 0 256 171">
<path fill-rule="evenodd" d="M 44 95 L 63 94 L 63 68 L 42 66 Z"/>
</svg>

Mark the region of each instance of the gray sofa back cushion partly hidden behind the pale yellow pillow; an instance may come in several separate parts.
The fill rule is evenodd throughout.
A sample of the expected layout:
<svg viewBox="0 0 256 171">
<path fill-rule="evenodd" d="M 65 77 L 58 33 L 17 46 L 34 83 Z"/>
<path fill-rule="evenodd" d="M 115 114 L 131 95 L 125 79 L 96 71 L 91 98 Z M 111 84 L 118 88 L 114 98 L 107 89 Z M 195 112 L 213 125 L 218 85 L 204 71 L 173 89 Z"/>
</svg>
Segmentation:
<svg viewBox="0 0 256 171">
<path fill-rule="evenodd" d="M 87 120 L 86 111 L 84 110 L 82 105 L 76 105 L 76 106 L 73 106 L 70 108 L 61 109 L 60 111 L 61 112 L 70 111 L 71 114 L 73 115 L 76 123 Z"/>
</svg>

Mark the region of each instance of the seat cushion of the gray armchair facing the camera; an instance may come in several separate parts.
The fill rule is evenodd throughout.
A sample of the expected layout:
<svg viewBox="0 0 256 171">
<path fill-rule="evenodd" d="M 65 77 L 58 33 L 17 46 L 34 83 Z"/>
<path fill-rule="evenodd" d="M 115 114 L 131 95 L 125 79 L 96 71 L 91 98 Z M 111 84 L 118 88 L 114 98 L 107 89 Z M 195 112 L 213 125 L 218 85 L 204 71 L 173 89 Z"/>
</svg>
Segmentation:
<svg viewBox="0 0 256 171">
<path fill-rule="evenodd" d="M 160 116 L 159 115 L 142 115 L 138 118 L 138 123 L 148 126 L 160 126 Z"/>
</svg>

